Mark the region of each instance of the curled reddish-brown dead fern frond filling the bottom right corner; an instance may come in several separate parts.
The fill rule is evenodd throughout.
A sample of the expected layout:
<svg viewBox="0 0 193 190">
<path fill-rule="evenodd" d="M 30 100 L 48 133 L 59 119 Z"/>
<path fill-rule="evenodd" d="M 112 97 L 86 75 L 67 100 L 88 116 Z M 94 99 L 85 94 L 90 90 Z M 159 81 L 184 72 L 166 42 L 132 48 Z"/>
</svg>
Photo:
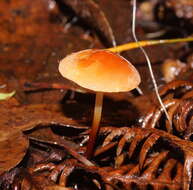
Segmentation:
<svg viewBox="0 0 193 190">
<path fill-rule="evenodd" d="M 111 179 L 114 185 L 122 184 L 123 189 L 192 188 L 192 142 L 157 129 L 124 127 L 111 128 L 110 132 L 102 128 L 101 135 L 104 135 L 103 130 L 105 143 L 101 143 L 102 147 L 118 141 L 114 146 L 117 151 L 112 155 L 115 170 L 108 174 L 106 180 Z M 121 172 L 121 168 L 125 169 Z"/>
</svg>

